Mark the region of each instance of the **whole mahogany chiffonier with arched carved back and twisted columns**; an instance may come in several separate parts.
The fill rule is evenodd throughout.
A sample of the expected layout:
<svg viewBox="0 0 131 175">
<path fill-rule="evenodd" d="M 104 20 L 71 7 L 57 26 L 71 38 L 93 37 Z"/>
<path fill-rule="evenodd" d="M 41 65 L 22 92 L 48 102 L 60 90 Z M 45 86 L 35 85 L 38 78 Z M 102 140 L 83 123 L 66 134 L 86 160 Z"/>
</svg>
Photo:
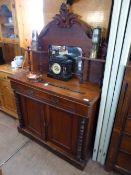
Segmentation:
<svg viewBox="0 0 131 175">
<path fill-rule="evenodd" d="M 53 50 L 50 55 L 51 47 L 81 50 L 79 58 L 84 59 L 80 63 L 81 73 L 72 72 L 68 81 L 55 79 L 58 75 L 62 78 L 68 66 L 63 67 L 62 63 L 60 68 L 59 59 L 63 57 L 63 60 L 64 56 L 60 50 Z M 62 4 L 60 14 L 43 28 L 36 48 L 32 50 L 30 68 L 33 73 L 42 75 L 41 80 L 31 81 L 26 71 L 10 76 L 19 117 L 18 130 L 81 169 L 93 150 L 101 92 L 99 85 L 105 63 L 105 60 L 89 58 L 91 48 L 92 29 L 78 20 L 66 4 Z M 55 77 L 50 78 L 47 76 L 49 71 L 55 69 L 55 66 L 49 66 L 50 58 L 53 60 L 58 52 L 60 57 L 54 65 L 59 71 L 54 71 Z M 73 66 L 78 66 L 77 58 Z"/>
</svg>

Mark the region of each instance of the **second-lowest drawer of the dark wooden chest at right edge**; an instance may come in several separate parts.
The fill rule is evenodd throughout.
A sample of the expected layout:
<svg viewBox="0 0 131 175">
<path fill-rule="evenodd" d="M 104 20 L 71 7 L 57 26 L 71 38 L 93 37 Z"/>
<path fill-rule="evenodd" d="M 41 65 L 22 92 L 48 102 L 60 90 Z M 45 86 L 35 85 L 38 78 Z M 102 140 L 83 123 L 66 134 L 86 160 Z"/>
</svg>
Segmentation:
<svg viewBox="0 0 131 175">
<path fill-rule="evenodd" d="M 124 135 L 122 137 L 120 149 L 131 154 L 131 136 Z"/>
</svg>

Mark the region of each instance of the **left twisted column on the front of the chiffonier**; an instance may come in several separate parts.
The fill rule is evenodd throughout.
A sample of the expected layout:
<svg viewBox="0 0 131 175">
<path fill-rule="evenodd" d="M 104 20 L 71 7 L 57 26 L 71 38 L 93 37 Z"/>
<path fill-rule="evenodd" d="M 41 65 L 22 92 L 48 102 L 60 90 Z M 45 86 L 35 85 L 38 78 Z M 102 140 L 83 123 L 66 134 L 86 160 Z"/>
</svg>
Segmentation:
<svg viewBox="0 0 131 175">
<path fill-rule="evenodd" d="M 24 120 L 23 120 L 23 117 L 22 117 L 21 109 L 20 109 L 19 95 L 15 91 L 14 91 L 14 95 L 15 95 L 16 108 L 17 108 L 17 113 L 18 113 L 18 118 L 19 118 L 19 127 L 24 128 Z"/>
</svg>

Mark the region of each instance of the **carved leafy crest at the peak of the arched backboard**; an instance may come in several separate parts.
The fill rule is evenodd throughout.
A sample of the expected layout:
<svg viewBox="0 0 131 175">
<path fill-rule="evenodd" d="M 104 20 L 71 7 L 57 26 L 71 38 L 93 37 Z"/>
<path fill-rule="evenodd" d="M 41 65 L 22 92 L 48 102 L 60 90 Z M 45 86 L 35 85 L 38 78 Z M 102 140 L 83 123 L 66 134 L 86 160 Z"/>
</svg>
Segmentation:
<svg viewBox="0 0 131 175">
<path fill-rule="evenodd" d="M 62 3 L 60 8 L 60 14 L 56 14 L 54 17 L 56 24 L 62 28 L 70 28 L 77 21 L 77 15 L 69 12 L 67 4 Z"/>
</svg>

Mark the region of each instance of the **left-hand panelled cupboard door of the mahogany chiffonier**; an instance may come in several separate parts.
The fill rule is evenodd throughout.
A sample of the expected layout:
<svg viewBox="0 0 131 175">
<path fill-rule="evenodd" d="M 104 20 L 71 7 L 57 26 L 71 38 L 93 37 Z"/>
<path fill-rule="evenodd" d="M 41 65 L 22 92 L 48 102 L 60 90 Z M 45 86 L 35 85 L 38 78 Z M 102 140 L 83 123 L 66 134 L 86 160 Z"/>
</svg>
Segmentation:
<svg viewBox="0 0 131 175">
<path fill-rule="evenodd" d="M 45 138 L 44 105 L 37 100 L 20 96 L 24 127 L 33 135 Z"/>
</svg>

